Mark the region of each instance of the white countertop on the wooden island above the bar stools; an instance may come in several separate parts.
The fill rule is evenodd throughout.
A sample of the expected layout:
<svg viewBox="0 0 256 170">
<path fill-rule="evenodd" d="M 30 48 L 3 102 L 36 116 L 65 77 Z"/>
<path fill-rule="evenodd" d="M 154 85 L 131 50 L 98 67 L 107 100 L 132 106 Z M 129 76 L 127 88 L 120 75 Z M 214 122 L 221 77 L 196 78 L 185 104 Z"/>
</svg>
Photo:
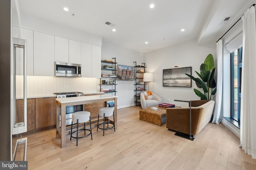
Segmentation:
<svg viewBox="0 0 256 170">
<path fill-rule="evenodd" d="M 71 102 L 82 102 L 88 100 L 99 100 L 99 99 L 108 99 L 108 98 L 117 98 L 118 96 L 103 94 L 103 95 L 94 95 L 94 96 L 80 96 L 72 98 L 56 98 L 58 102 L 62 103 L 71 103 Z"/>
</svg>

